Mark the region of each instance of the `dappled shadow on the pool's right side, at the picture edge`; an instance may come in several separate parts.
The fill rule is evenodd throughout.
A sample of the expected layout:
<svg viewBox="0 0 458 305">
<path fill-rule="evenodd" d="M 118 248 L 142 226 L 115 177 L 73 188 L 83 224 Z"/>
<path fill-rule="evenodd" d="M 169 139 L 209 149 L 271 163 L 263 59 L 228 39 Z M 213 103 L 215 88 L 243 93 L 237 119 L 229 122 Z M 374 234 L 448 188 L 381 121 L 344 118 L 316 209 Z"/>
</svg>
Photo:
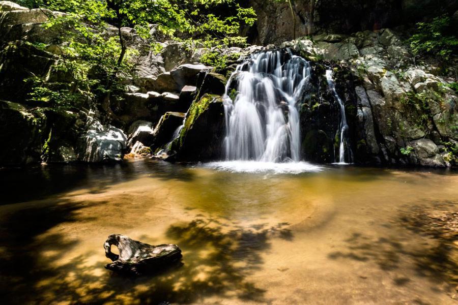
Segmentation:
<svg viewBox="0 0 458 305">
<path fill-rule="evenodd" d="M 451 289 L 458 285 L 458 201 L 443 201 L 433 207 L 421 204 L 399 211 L 397 218 L 387 227 L 397 226 L 405 233 L 413 232 L 418 237 L 414 246 L 406 246 L 412 240 L 403 236 L 367 236 L 353 233 L 345 240 L 347 251 L 328 254 L 330 259 L 351 259 L 360 262 L 375 262 L 380 269 L 395 271 L 413 263 L 413 270 L 420 277 Z M 409 235 L 406 235 L 409 236 Z M 409 278 L 398 277 L 394 283 L 404 286 Z"/>
</svg>

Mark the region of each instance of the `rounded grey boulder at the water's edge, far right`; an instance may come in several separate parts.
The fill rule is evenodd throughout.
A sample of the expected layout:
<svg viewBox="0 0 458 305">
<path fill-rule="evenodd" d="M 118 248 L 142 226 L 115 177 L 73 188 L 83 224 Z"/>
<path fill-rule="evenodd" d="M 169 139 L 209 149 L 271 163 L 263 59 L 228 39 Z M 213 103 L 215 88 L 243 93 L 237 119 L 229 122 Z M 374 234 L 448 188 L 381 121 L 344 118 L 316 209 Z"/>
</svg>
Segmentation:
<svg viewBox="0 0 458 305">
<path fill-rule="evenodd" d="M 439 153 L 439 148 L 430 139 L 418 139 L 409 142 L 414 151 L 410 155 L 410 160 L 414 164 L 422 166 L 444 167 L 445 162 Z"/>
</svg>

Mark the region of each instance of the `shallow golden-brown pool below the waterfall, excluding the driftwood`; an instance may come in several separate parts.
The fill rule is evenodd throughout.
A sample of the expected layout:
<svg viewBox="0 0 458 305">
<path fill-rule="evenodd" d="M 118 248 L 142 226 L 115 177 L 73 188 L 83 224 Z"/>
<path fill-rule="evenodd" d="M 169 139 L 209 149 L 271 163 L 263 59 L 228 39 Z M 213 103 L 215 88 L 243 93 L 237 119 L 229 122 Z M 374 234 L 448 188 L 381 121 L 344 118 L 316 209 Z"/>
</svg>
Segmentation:
<svg viewBox="0 0 458 305">
<path fill-rule="evenodd" d="M 1 170 L 3 303 L 456 304 L 456 172 L 234 168 Z M 183 265 L 113 274 L 112 233 L 177 243 Z"/>
</svg>

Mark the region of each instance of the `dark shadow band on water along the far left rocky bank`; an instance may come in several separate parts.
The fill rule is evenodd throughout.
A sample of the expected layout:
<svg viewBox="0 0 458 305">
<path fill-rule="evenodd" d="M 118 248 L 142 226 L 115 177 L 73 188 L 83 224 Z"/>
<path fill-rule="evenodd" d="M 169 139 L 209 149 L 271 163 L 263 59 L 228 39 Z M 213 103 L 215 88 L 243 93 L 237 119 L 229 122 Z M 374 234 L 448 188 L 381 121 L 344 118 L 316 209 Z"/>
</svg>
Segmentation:
<svg viewBox="0 0 458 305">
<path fill-rule="evenodd" d="M 118 164 L 49 164 L 27 168 L 0 169 L 0 204 L 37 200 L 80 188 L 90 193 L 105 192 L 109 186 L 141 176 L 191 181 L 186 166 L 154 159 L 139 159 Z M 24 191 L 26 189 L 26 191 Z"/>
</svg>

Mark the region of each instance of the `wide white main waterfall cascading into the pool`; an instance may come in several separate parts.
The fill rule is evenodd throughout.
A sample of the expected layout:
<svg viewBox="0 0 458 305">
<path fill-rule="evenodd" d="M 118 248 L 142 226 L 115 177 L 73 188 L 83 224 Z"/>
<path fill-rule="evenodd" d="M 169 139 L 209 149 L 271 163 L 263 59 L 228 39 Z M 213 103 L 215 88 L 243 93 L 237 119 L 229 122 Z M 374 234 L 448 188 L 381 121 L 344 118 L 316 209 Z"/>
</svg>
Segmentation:
<svg viewBox="0 0 458 305">
<path fill-rule="evenodd" d="M 304 58 L 279 50 L 253 54 L 237 67 L 224 95 L 226 160 L 300 161 L 296 103 L 310 73 Z"/>
</svg>

